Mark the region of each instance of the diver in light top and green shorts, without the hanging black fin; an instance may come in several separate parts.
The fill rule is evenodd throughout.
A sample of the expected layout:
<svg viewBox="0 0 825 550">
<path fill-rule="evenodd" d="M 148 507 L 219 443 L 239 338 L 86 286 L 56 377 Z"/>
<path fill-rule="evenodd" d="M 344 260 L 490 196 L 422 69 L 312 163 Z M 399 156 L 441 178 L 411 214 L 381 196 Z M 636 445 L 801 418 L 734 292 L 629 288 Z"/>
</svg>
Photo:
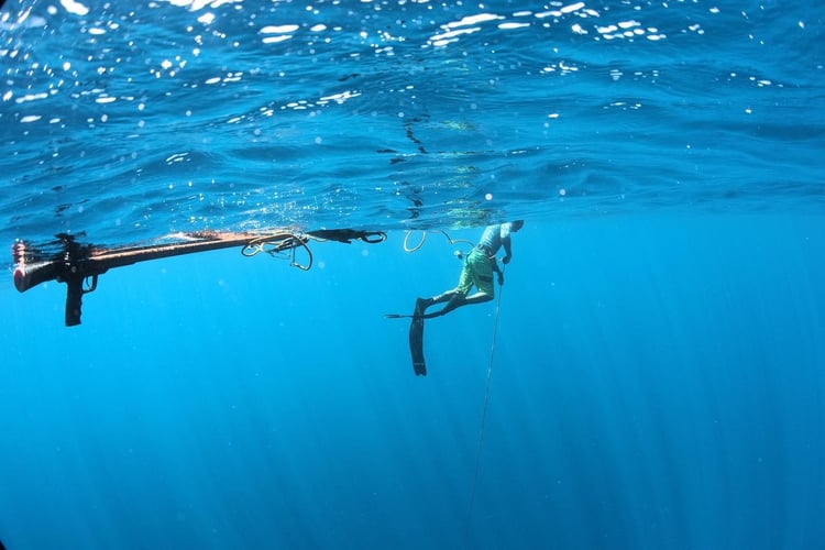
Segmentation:
<svg viewBox="0 0 825 550">
<path fill-rule="evenodd" d="M 495 287 L 493 286 L 494 272 L 498 275 L 498 285 L 504 285 L 504 273 L 496 262 L 496 253 L 504 248 L 505 256 L 502 258 L 502 263 L 506 265 L 510 262 L 513 258 L 510 233 L 517 232 L 524 224 L 524 220 L 516 220 L 485 228 L 479 244 L 464 258 L 464 267 L 461 270 L 459 286 L 432 298 L 416 299 L 416 309 L 413 318 L 431 319 L 449 314 L 461 306 L 483 304 L 492 300 L 495 295 Z M 472 296 L 468 296 L 473 286 L 479 292 Z M 435 314 L 426 314 L 428 307 L 444 301 L 447 305 L 441 310 Z"/>
</svg>

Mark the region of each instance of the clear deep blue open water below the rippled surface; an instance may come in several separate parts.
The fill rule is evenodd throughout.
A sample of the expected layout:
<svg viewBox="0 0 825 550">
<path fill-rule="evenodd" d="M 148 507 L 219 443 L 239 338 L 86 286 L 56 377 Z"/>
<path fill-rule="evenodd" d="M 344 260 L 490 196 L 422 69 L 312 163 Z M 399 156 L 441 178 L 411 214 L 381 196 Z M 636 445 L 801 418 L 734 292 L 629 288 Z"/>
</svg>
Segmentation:
<svg viewBox="0 0 825 550">
<path fill-rule="evenodd" d="M 825 223 L 530 220 L 495 304 L 428 321 L 440 234 L 116 270 L 0 326 L 0 535 L 16 548 L 822 548 Z M 476 239 L 477 231 L 453 238 Z M 413 237 L 411 240 L 416 240 Z M 10 280 L 10 277 L 9 279 Z"/>
</svg>

